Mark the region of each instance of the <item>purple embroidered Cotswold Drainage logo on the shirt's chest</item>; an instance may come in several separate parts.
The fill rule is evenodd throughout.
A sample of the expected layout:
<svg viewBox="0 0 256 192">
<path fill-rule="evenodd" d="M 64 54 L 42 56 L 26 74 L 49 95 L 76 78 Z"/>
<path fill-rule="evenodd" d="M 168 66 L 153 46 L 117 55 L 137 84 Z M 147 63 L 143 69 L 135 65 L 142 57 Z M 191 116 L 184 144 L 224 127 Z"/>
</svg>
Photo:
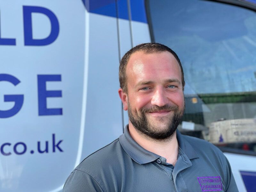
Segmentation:
<svg viewBox="0 0 256 192">
<path fill-rule="evenodd" d="M 221 191 L 222 183 L 220 176 L 218 177 L 197 177 L 202 191 Z"/>
</svg>

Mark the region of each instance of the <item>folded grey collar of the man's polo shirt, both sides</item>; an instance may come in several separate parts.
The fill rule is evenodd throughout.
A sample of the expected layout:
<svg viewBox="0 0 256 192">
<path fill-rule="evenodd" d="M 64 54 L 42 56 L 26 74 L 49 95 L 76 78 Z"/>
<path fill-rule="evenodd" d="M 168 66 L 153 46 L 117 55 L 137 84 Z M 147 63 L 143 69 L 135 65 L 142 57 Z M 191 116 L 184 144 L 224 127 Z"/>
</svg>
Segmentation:
<svg viewBox="0 0 256 192">
<path fill-rule="evenodd" d="M 178 129 L 176 134 L 179 143 L 179 152 L 181 151 L 186 154 L 189 159 L 199 158 L 194 148 L 184 138 L 185 136 L 178 131 Z M 142 148 L 135 140 L 133 140 L 129 133 L 128 125 L 124 127 L 124 134 L 119 137 L 119 141 L 124 151 L 138 164 L 150 163 L 161 157 Z"/>
</svg>

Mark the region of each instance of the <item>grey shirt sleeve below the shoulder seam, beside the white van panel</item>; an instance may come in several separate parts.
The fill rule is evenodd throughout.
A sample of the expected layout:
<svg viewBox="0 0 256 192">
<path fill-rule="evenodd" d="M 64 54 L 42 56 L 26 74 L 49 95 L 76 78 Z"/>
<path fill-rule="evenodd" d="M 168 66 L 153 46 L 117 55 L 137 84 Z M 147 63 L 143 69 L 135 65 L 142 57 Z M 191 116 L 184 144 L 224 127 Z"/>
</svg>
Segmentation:
<svg viewBox="0 0 256 192">
<path fill-rule="evenodd" d="M 99 183 L 88 173 L 75 170 L 66 180 L 62 192 L 104 192 Z"/>
</svg>

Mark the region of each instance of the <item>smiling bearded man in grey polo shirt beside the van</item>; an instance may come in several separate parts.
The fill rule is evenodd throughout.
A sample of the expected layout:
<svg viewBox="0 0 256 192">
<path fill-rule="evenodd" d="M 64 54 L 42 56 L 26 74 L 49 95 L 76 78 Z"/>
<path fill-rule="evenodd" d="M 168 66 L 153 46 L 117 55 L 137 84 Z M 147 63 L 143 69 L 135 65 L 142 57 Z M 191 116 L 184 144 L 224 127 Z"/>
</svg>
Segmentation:
<svg viewBox="0 0 256 192">
<path fill-rule="evenodd" d="M 120 62 L 124 134 L 88 156 L 63 192 L 229 191 L 237 187 L 222 152 L 176 129 L 184 112 L 184 75 L 170 48 L 140 44 Z"/>
</svg>

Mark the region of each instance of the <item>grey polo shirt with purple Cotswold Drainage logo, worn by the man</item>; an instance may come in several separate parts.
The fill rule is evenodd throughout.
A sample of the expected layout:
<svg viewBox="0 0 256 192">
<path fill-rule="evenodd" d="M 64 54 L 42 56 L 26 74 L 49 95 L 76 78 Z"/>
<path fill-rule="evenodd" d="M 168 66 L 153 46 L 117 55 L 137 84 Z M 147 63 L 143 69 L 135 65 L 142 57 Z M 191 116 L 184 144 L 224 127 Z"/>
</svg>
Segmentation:
<svg viewBox="0 0 256 192">
<path fill-rule="evenodd" d="M 181 135 L 175 166 L 137 144 L 128 126 L 119 139 L 86 157 L 63 192 L 238 191 L 228 160 L 211 143 Z"/>
</svg>

